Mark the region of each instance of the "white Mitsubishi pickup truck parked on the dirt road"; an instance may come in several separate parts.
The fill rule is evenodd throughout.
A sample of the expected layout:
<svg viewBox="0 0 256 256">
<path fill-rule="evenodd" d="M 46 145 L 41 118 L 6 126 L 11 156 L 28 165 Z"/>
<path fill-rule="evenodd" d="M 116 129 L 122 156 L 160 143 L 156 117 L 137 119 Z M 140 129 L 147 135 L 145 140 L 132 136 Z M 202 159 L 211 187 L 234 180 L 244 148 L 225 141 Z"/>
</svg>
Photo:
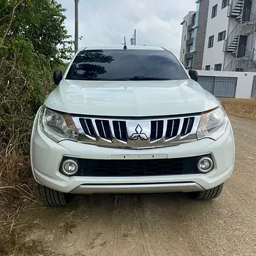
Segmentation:
<svg viewBox="0 0 256 256">
<path fill-rule="evenodd" d="M 173 53 L 84 48 L 34 120 L 31 167 L 50 206 L 71 194 L 189 192 L 213 199 L 234 165 L 230 121 Z"/>
</svg>

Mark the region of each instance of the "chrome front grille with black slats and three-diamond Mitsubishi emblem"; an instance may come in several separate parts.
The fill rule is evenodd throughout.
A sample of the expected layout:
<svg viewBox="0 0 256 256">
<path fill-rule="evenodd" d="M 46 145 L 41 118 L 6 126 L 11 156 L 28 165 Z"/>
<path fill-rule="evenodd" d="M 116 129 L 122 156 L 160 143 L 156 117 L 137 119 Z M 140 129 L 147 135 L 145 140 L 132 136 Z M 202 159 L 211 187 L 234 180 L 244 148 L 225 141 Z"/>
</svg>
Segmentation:
<svg viewBox="0 0 256 256">
<path fill-rule="evenodd" d="M 72 116 L 81 143 L 116 148 L 154 148 L 195 141 L 200 116 L 89 118 Z"/>
</svg>

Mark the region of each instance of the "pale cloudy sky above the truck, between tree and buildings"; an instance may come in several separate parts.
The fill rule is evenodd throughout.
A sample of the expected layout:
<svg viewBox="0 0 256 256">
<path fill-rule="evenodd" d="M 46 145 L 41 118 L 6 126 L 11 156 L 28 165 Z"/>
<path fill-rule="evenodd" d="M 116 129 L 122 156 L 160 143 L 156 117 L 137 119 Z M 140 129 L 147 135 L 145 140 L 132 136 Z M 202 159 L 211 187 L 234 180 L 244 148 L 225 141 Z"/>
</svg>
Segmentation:
<svg viewBox="0 0 256 256">
<path fill-rule="evenodd" d="M 57 1 L 67 9 L 65 26 L 74 39 L 74 0 Z M 180 23 L 195 7 L 195 0 L 80 0 L 79 48 L 121 45 L 124 36 L 129 43 L 136 29 L 137 45 L 162 46 L 179 56 Z"/>
</svg>

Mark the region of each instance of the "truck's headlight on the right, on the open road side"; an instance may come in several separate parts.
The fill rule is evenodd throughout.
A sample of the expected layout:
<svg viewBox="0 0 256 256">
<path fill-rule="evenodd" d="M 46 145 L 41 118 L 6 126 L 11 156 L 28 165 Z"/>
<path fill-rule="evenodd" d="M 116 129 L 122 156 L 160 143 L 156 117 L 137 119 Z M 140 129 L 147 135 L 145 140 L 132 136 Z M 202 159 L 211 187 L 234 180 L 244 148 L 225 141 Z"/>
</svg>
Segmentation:
<svg viewBox="0 0 256 256">
<path fill-rule="evenodd" d="M 217 140 L 226 130 L 228 117 L 222 107 L 203 113 L 197 129 L 197 139 Z"/>
</svg>

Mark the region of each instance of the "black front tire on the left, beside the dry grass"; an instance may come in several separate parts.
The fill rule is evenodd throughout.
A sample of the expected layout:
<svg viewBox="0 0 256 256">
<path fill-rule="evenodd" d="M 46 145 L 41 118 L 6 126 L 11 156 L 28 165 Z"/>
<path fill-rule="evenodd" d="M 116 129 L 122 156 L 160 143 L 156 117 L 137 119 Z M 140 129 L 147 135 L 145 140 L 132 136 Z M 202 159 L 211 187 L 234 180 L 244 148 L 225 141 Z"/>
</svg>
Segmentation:
<svg viewBox="0 0 256 256">
<path fill-rule="evenodd" d="M 70 195 L 38 184 L 39 195 L 48 206 L 66 206 Z"/>
</svg>

